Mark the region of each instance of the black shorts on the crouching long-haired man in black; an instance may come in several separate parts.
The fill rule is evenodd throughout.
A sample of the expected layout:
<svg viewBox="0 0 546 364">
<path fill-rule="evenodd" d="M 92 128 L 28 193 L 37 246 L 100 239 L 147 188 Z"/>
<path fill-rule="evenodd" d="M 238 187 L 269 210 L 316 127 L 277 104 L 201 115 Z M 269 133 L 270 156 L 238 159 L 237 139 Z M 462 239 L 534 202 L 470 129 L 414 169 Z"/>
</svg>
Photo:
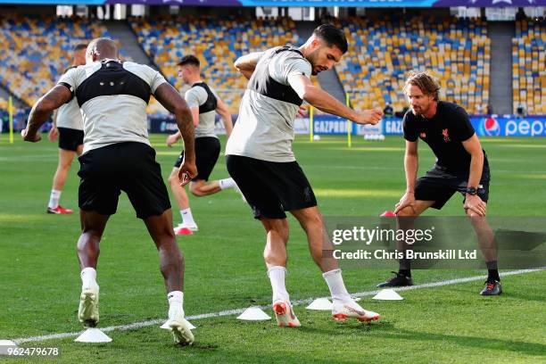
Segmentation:
<svg viewBox="0 0 546 364">
<path fill-rule="evenodd" d="M 477 195 L 484 203 L 489 199 L 489 181 L 491 175 L 488 168 L 482 172 L 480 186 L 477 189 Z M 448 172 L 439 165 L 434 165 L 432 170 L 426 172 L 424 177 L 418 178 L 415 185 L 415 199 L 423 201 L 434 201 L 431 206 L 433 209 L 441 210 L 443 205 L 448 202 L 453 194 L 460 192 L 465 195 L 468 186 L 467 175 L 456 175 Z"/>
</svg>

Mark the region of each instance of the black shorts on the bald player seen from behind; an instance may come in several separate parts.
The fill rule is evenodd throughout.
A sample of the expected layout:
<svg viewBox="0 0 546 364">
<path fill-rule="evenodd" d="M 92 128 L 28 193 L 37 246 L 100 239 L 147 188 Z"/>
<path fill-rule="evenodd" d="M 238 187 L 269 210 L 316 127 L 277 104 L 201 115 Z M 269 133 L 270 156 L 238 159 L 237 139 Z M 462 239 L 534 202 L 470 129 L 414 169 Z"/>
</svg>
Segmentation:
<svg viewBox="0 0 546 364">
<path fill-rule="evenodd" d="M 81 210 L 112 215 L 120 191 L 127 193 L 139 219 L 170 209 L 161 167 L 149 145 L 128 142 L 103 146 L 80 155 L 79 164 Z"/>
</svg>

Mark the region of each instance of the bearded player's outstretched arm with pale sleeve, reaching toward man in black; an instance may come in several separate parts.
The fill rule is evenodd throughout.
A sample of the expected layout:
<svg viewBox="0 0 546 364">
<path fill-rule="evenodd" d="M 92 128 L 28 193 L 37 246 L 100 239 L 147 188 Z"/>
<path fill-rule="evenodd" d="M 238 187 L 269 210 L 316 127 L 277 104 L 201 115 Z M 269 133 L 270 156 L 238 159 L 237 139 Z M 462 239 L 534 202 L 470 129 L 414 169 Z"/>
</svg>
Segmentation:
<svg viewBox="0 0 546 364">
<path fill-rule="evenodd" d="M 334 96 L 314 86 L 305 75 L 291 74 L 288 76 L 288 83 L 303 100 L 315 106 L 318 110 L 341 116 L 358 124 L 375 125 L 383 115 L 380 110 L 365 110 L 362 112 L 352 110 L 337 101 Z"/>
</svg>

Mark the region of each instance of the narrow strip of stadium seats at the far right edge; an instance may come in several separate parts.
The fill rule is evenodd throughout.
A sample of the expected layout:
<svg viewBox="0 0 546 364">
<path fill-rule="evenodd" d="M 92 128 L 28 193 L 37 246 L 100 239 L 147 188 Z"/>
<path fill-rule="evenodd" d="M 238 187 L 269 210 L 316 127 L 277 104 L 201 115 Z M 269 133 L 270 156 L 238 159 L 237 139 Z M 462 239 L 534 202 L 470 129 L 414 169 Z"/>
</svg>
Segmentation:
<svg viewBox="0 0 546 364">
<path fill-rule="evenodd" d="M 522 106 L 526 114 L 546 114 L 546 24 L 517 21 L 512 39 L 514 111 Z"/>
</svg>

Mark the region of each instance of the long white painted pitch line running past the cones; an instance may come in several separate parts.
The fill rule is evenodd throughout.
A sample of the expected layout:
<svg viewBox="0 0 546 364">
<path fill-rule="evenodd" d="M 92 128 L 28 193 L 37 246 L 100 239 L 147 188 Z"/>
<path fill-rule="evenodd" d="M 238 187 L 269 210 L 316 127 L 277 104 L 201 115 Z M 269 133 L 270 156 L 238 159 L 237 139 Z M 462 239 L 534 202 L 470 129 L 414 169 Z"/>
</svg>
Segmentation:
<svg viewBox="0 0 546 364">
<path fill-rule="evenodd" d="M 541 270 L 546 269 L 546 267 L 536 268 L 536 269 L 518 269 L 518 270 L 510 270 L 508 272 L 502 272 L 500 274 L 501 277 L 508 277 L 508 276 L 515 276 L 518 274 L 525 274 L 525 273 L 531 273 L 531 272 L 538 272 Z M 467 282 L 474 282 L 476 280 L 482 280 L 487 278 L 486 276 L 475 276 L 475 277 L 465 277 L 465 278 L 456 278 L 456 279 L 448 279 L 443 280 L 439 282 L 432 282 L 432 283 L 426 283 L 423 285 L 410 285 L 406 287 L 397 287 L 393 288 L 394 291 L 410 291 L 414 289 L 421 289 L 421 288 L 431 288 L 431 287 L 440 287 L 443 285 L 456 285 L 459 283 L 467 283 Z M 366 297 L 371 295 L 376 295 L 379 292 L 379 290 L 375 291 L 368 291 L 368 292 L 359 292 L 357 294 L 352 294 L 353 297 Z M 305 300 L 298 300 L 292 302 L 294 306 L 302 305 L 302 304 L 309 304 L 312 302 L 314 298 L 307 298 Z M 269 305 L 267 306 L 259 306 L 261 309 L 269 309 Z M 200 315 L 193 315 L 186 317 L 187 320 L 192 321 L 195 319 L 202 319 L 202 318 L 219 318 L 223 316 L 231 316 L 231 315 L 237 315 L 240 313 L 243 313 L 244 309 L 236 309 L 236 310 L 222 310 L 219 312 L 210 312 L 210 313 L 203 313 Z M 148 321 L 140 321 L 135 322 L 128 325 L 119 325 L 119 326 L 112 326 L 112 327 L 102 327 L 101 330 L 103 332 L 110 332 L 113 330 L 133 330 L 136 328 L 141 327 L 149 327 L 153 325 L 161 325 L 163 322 L 165 322 L 165 318 L 157 318 L 157 319 L 151 319 Z M 30 342 L 40 342 L 44 340 L 52 340 L 52 339 L 63 339 L 66 337 L 74 337 L 81 334 L 81 331 L 79 332 L 71 332 L 71 333 L 61 333 L 61 334 L 53 334 L 53 335 L 42 335 L 42 336 L 31 336 L 31 337 L 21 337 L 19 339 L 12 340 L 17 345 L 20 345 L 21 343 L 30 343 Z"/>
</svg>

